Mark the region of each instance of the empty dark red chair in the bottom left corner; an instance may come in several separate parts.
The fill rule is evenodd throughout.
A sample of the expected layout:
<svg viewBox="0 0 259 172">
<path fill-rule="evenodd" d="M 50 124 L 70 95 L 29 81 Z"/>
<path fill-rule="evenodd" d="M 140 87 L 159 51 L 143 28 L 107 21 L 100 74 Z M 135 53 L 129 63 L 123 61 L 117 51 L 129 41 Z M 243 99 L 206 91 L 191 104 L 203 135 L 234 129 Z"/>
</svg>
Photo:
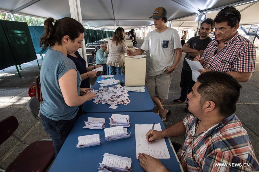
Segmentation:
<svg viewBox="0 0 259 172">
<path fill-rule="evenodd" d="M 28 145 L 13 134 L 18 128 L 18 125 L 19 123 L 14 116 L 0 121 L 0 144 L 5 142 L 10 136 L 13 136 L 16 140 L 27 146 L 5 171 L 46 171 L 54 160 L 55 151 L 53 142 L 36 141 Z"/>
</svg>

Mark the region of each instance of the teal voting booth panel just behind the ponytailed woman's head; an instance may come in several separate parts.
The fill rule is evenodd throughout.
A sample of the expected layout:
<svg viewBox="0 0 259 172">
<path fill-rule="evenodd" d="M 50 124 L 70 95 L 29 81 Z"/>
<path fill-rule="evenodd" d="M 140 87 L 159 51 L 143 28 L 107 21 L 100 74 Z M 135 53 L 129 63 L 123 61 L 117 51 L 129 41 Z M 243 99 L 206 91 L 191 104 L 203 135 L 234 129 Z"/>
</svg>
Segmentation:
<svg viewBox="0 0 259 172">
<path fill-rule="evenodd" d="M 45 54 L 49 47 L 46 49 L 41 48 L 40 45 L 40 38 L 44 35 L 44 26 L 28 26 L 31 34 L 31 39 L 33 42 L 33 46 L 35 49 L 36 54 Z"/>
</svg>

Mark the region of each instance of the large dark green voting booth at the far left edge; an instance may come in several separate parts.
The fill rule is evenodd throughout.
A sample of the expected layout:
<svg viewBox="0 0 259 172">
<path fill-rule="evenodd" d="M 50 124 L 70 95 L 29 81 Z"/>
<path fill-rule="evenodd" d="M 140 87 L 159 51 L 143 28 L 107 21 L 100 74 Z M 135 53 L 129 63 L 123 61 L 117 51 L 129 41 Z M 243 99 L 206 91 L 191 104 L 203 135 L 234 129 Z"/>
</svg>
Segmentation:
<svg viewBox="0 0 259 172">
<path fill-rule="evenodd" d="M 3 47 L 9 46 L 9 49 L 6 48 L 1 51 L 4 51 L 7 56 L 1 55 L 1 61 L 4 61 L 6 64 L 1 63 L 0 69 L 37 59 L 27 23 L 7 20 L 0 20 L 0 23 L 1 40 L 5 41 L 1 41 L 1 44 L 5 44 L 1 45 L 1 50 Z M 12 58 L 13 60 L 4 60 L 3 58 Z M 15 64 L 13 61 L 15 61 Z"/>
</svg>

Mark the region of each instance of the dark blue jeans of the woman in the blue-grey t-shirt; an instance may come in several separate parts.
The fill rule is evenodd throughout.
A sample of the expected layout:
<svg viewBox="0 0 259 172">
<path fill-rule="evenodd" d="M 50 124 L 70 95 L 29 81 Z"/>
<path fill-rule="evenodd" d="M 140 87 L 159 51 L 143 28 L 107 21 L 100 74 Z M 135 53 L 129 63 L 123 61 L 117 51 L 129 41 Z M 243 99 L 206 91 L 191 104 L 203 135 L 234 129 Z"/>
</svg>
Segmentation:
<svg viewBox="0 0 259 172">
<path fill-rule="evenodd" d="M 72 127 L 75 124 L 76 117 L 70 120 L 54 121 L 40 114 L 40 119 L 45 132 L 50 135 L 50 138 L 53 141 L 56 158 L 59 150 L 61 149 L 68 134 L 70 133 Z"/>
</svg>

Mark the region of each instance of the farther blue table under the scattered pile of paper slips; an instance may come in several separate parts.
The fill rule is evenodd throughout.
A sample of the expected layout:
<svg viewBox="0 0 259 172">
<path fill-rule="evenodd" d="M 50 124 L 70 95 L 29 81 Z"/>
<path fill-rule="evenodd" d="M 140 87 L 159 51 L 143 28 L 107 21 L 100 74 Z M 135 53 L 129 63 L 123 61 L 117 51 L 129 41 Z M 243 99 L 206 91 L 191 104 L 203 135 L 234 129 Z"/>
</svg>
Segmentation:
<svg viewBox="0 0 259 172">
<path fill-rule="evenodd" d="M 97 78 L 100 80 L 101 76 Z M 114 79 L 120 80 L 120 82 L 125 82 L 125 75 L 114 75 Z M 92 89 L 99 90 L 101 87 L 98 82 L 94 83 Z M 120 83 L 118 83 L 120 84 Z M 113 87 L 114 85 L 104 86 Z M 145 92 L 128 92 L 128 98 L 131 102 L 128 105 L 117 105 L 116 109 L 110 109 L 108 104 L 95 104 L 93 101 L 87 101 L 84 103 L 82 109 L 85 113 L 99 113 L 99 112 L 142 112 L 142 111 L 152 111 L 154 109 L 154 103 L 150 97 L 148 89 L 145 88 Z"/>
</svg>

